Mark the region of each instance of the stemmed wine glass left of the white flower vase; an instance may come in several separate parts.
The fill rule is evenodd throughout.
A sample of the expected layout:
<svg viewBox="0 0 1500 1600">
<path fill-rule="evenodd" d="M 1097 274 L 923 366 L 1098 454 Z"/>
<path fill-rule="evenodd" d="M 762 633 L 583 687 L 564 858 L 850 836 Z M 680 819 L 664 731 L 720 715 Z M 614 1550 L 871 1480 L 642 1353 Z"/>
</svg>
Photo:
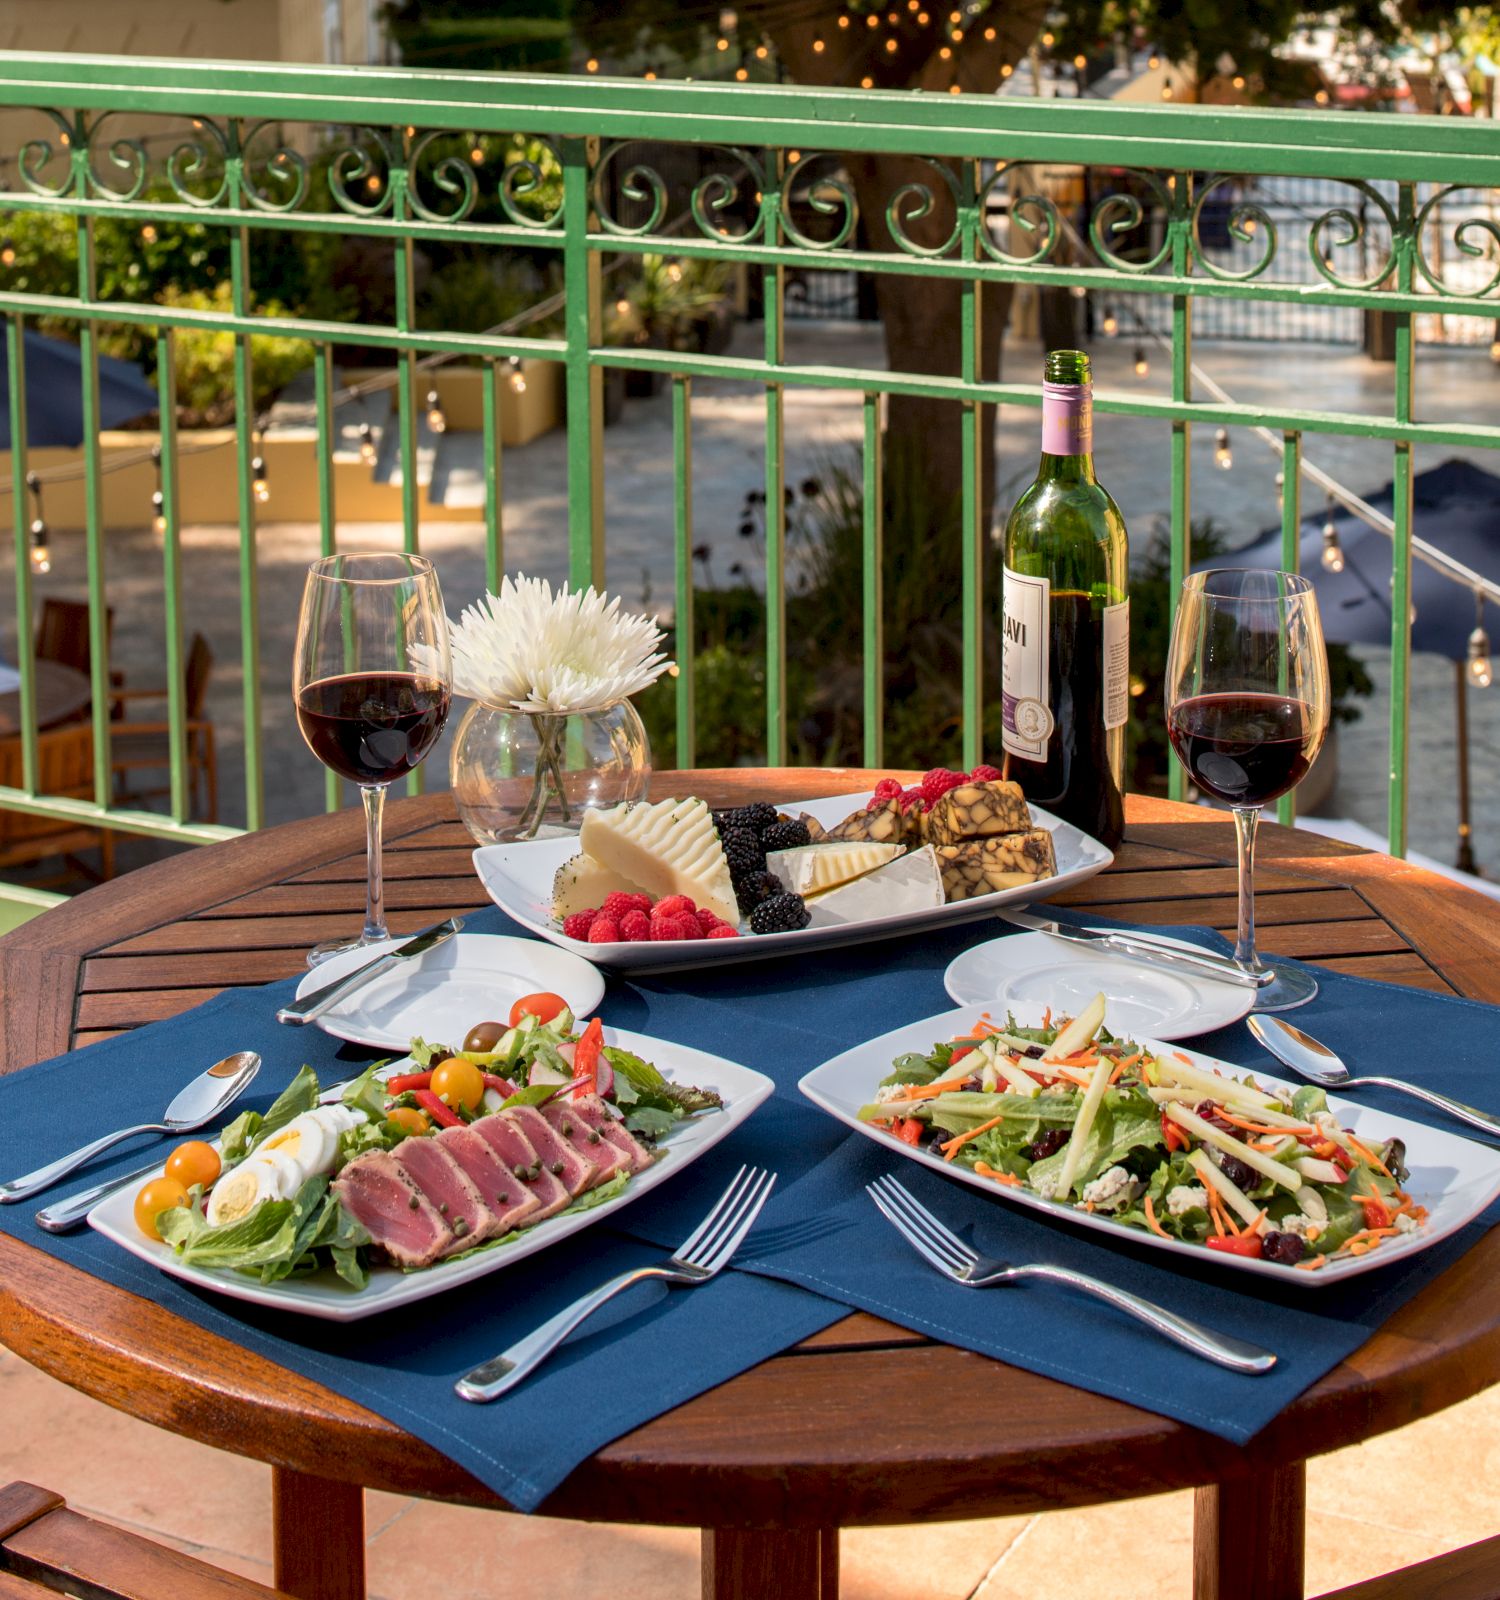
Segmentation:
<svg viewBox="0 0 1500 1600">
<path fill-rule="evenodd" d="M 293 698 L 313 755 L 360 786 L 368 882 L 357 939 L 315 946 L 307 965 L 390 938 L 381 878 L 385 786 L 417 766 L 448 720 L 448 618 L 421 555 L 328 555 L 307 570 Z"/>
</svg>

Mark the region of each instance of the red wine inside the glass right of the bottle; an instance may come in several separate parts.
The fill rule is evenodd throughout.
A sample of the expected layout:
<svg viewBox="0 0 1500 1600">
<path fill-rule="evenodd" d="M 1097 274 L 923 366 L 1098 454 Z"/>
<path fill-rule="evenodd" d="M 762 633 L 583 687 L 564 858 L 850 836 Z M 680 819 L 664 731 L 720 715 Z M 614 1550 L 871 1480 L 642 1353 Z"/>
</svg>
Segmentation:
<svg viewBox="0 0 1500 1600">
<path fill-rule="evenodd" d="M 1195 694 L 1171 709 L 1167 734 L 1199 789 L 1255 806 L 1302 782 L 1321 739 L 1307 701 L 1284 694 Z"/>
</svg>

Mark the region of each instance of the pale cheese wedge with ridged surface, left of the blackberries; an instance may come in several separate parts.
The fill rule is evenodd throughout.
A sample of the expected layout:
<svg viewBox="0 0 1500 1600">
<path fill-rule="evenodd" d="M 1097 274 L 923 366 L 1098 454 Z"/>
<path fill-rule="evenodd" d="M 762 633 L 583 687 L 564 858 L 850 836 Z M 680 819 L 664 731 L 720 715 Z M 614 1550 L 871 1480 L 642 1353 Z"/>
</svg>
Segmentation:
<svg viewBox="0 0 1500 1600">
<path fill-rule="evenodd" d="M 712 910 L 732 926 L 739 904 L 729 862 L 702 800 L 657 800 L 654 805 L 585 811 L 579 830 L 584 854 L 638 883 L 646 894 L 686 894 L 699 910 Z"/>
</svg>

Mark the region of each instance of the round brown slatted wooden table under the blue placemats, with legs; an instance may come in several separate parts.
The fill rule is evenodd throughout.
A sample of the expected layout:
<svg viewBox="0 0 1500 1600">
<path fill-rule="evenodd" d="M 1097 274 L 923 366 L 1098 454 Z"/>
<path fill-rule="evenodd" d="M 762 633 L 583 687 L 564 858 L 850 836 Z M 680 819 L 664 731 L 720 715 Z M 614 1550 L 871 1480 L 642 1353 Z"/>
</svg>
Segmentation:
<svg viewBox="0 0 1500 1600">
<path fill-rule="evenodd" d="M 860 790 L 875 776 L 704 771 L 654 782 L 657 794 L 728 805 Z M 1228 821 L 1139 797 L 1127 816 L 1111 870 L 1060 899 L 1135 922 L 1233 928 Z M 385 827 L 397 931 L 483 902 L 446 795 L 393 803 Z M 1500 1000 L 1492 901 L 1287 829 L 1267 827 L 1260 854 L 1267 950 Z M 357 925 L 363 880 L 363 821 L 349 811 L 190 851 L 46 912 L 0 939 L 0 994 L 11 1002 L 0 1070 L 301 970 L 307 946 Z M 712 1600 L 830 1600 L 840 1526 L 1084 1506 L 1121 1498 L 1124 1485 L 1131 1494 L 1195 1486 L 1199 1600 L 1302 1600 L 1303 1461 L 1500 1378 L 1497 1274 L 1500 1230 L 1246 1448 L 851 1315 L 598 1451 L 545 1512 L 704 1528 Z M 382 1418 L 11 1240 L 0 1240 L 0 1339 L 133 1416 L 269 1462 L 275 1582 L 305 1600 L 363 1595 L 365 1486 L 502 1504 Z M 936 1427 L 934 1397 L 955 1394 L 964 1405 L 942 1403 Z"/>
</svg>

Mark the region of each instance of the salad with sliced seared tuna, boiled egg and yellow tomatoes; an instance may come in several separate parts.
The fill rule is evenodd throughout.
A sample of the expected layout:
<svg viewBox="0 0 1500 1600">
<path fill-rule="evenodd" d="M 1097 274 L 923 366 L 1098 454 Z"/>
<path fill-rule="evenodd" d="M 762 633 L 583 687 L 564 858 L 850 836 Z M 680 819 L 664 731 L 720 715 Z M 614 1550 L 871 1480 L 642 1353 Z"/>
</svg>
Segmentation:
<svg viewBox="0 0 1500 1600">
<path fill-rule="evenodd" d="M 419 1270 L 614 1198 L 721 1104 L 604 1043 L 598 1018 L 580 1027 L 561 997 L 528 995 L 464 1048 L 414 1040 L 336 1093 L 304 1066 L 217 1149 L 174 1152 L 136 1222 L 193 1266 L 261 1283 L 331 1267 L 363 1288 L 376 1261 Z"/>
</svg>

